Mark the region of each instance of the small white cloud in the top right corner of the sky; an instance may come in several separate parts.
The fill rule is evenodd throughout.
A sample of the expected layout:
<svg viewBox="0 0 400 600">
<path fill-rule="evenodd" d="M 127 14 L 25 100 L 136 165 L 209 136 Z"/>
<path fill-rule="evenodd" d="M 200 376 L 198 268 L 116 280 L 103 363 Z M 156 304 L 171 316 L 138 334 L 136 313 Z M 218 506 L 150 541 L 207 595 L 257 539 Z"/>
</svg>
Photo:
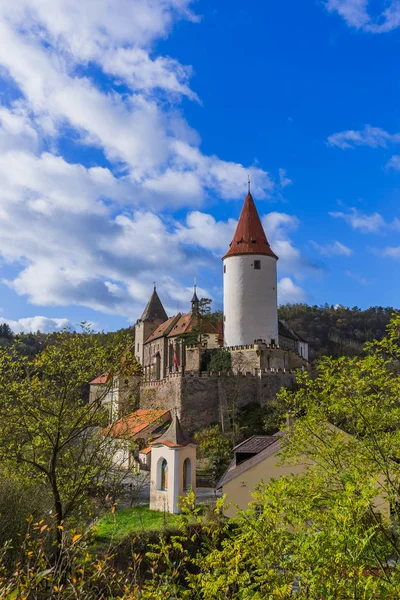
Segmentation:
<svg viewBox="0 0 400 600">
<path fill-rule="evenodd" d="M 381 2 L 380 13 L 372 16 L 369 0 L 326 0 L 330 12 L 337 12 L 350 27 L 371 33 L 385 33 L 400 25 L 400 4 L 398 0 Z"/>
</svg>

